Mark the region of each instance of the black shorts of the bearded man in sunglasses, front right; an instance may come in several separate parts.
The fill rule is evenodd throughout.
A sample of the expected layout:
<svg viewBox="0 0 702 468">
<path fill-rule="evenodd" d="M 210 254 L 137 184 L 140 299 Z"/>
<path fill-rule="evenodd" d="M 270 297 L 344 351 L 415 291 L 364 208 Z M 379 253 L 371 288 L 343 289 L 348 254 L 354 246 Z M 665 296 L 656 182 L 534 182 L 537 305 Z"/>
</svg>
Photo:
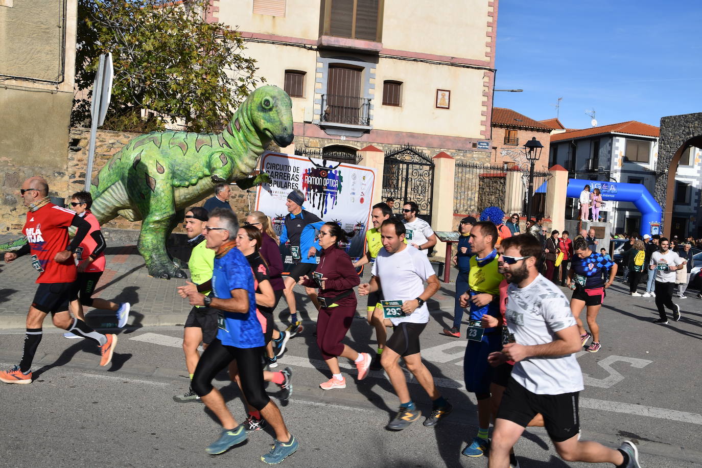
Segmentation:
<svg viewBox="0 0 702 468">
<path fill-rule="evenodd" d="M 543 415 L 543 425 L 554 442 L 567 441 L 578 434 L 578 395 L 580 392 L 560 395 L 538 395 L 519 385 L 510 377 L 502 396 L 497 417 L 527 427 L 538 413 Z"/>
</svg>

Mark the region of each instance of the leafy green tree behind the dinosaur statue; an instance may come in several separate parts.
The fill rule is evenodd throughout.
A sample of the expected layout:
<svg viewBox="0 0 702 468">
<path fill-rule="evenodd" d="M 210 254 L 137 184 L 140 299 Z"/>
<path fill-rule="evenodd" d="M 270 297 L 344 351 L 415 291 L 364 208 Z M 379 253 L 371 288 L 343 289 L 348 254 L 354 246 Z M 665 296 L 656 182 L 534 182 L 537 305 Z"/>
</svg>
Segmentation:
<svg viewBox="0 0 702 468">
<path fill-rule="evenodd" d="M 79 0 L 77 97 L 73 125 L 88 126 L 95 70 L 111 52 L 112 101 L 102 128 L 152 131 L 185 123 L 189 131 L 222 128 L 256 82 L 244 40 L 207 22 L 209 0 Z M 151 116 L 145 121 L 143 110 Z"/>
</svg>

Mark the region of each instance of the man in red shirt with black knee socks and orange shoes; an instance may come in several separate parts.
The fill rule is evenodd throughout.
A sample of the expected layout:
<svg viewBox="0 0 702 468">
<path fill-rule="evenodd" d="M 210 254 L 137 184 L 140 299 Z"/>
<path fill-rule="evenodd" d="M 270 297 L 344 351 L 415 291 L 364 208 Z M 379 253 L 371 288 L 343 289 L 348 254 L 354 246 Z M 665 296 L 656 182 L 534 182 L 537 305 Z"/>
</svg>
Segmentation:
<svg viewBox="0 0 702 468">
<path fill-rule="evenodd" d="M 27 334 L 25 350 L 19 366 L 0 371 L 0 380 L 8 384 L 32 383 L 32 361 L 41 342 L 41 324 L 51 312 L 53 324 L 98 343 L 100 366 L 112 361 L 117 335 L 102 335 L 79 319 L 71 319 L 68 313 L 68 300 L 72 283 L 76 280 L 76 265 L 72 252 L 80 245 L 90 230 L 90 224 L 76 213 L 60 208 L 48 201 L 48 184 L 40 177 L 25 180 L 20 189 L 25 206 L 29 208 L 27 222 L 22 232 L 29 242 L 18 253 L 5 253 L 5 261 L 12 262 L 18 255 L 32 253 L 32 266 L 39 272 L 39 288 L 27 314 Z M 68 227 L 78 228 L 76 235 L 68 243 Z"/>
</svg>

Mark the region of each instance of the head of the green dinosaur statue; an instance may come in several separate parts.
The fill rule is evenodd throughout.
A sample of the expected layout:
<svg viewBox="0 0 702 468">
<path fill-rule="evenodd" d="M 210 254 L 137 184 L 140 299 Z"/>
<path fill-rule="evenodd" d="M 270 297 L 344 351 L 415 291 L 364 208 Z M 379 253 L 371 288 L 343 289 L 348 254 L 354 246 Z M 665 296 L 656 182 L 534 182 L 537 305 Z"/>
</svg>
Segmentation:
<svg viewBox="0 0 702 468">
<path fill-rule="evenodd" d="M 288 93 L 277 86 L 261 86 L 247 100 L 249 119 L 262 142 L 273 140 L 279 147 L 293 142 L 293 102 Z"/>
</svg>

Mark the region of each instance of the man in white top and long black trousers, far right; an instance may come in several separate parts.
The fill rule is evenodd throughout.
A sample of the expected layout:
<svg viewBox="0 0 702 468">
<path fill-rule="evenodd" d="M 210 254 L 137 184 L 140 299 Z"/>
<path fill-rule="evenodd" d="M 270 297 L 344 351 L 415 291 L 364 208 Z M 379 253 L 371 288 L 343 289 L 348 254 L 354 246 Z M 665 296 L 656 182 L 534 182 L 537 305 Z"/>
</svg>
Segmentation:
<svg viewBox="0 0 702 468">
<path fill-rule="evenodd" d="M 675 286 L 675 271 L 687 268 L 684 265 L 687 261 L 680 258 L 680 255 L 670 250 L 670 242 L 665 237 L 658 241 L 658 250 L 651 254 L 649 269 L 656 273 L 656 307 L 660 319 L 654 323 L 661 325 L 668 324 L 668 316 L 665 314 L 665 307 L 673 311 L 673 320 L 680 320 L 680 306 L 673 302 L 673 286 Z"/>
</svg>

